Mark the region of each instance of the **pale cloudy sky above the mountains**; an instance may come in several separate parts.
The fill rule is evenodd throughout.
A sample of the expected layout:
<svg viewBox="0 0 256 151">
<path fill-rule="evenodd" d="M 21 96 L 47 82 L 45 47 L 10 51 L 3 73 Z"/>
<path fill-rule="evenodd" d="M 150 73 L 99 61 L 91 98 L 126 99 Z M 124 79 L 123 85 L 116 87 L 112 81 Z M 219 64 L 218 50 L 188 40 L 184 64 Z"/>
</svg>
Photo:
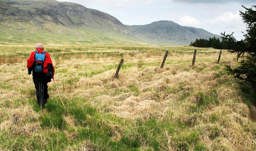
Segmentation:
<svg viewBox="0 0 256 151">
<path fill-rule="evenodd" d="M 173 21 L 213 34 L 231 34 L 243 39 L 246 24 L 239 11 L 256 5 L 256 0 L 58 0 L 74 2 L 103 11 L 125 25 L 146 25 L 154 21 Z"/>
</svg>

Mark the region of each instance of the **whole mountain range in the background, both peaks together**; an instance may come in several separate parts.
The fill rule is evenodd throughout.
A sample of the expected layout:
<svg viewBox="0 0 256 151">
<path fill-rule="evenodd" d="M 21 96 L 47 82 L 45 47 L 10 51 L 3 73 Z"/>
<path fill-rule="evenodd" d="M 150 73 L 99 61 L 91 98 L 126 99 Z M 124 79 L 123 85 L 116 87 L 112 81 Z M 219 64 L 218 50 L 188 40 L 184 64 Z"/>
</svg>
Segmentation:
<svg viewBox="0 0 256 151">
<path fill-rule="evenodd" d="M 71 2 L 0 0 L 0 44 L 188 45 L 219 37 L 172 21 L 123 25 L 114 16 Z"/>
</svg>

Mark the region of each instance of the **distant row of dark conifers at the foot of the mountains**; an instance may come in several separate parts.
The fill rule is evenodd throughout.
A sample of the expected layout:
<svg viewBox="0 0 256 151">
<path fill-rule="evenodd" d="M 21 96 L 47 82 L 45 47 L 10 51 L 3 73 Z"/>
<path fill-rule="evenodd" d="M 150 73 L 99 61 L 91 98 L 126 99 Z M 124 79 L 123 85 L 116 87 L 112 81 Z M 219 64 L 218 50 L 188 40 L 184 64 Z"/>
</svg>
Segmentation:
<svg viewBox="0 0 256 151">
<path fill-rule="evenodd" d="M 209 40 L 207 39 L 196 39 L 196 41 L 191 42 L 190 46 L 194 46 L 194 47 L 201 47 L 201 48 L 215 48 L 215 49 L 228 49 L 227 44 L 224 41 L 221 41 L 219 38 L 213 37 L 213 38 L 209 38 Z"/>
</svg>

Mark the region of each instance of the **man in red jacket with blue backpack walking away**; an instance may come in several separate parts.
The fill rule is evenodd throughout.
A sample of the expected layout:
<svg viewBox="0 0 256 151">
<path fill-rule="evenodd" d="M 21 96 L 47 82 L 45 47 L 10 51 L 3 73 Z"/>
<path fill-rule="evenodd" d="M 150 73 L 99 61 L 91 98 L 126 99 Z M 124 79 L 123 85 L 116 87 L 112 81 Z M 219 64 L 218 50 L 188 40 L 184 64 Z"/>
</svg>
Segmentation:
<svg viewBox="0 0 256 151">
<path fill-rule="evenodd" d="M 54 67 L 50 55 L 44 51 L 43 43 L 36 44 L 27 60 L 28 75 L 33 72 L 33 82 L 36 88 L 36 98 L 38 105 L 44 109 L 49 98 L 47 83 L 54 77 Z"/>
</svg>

